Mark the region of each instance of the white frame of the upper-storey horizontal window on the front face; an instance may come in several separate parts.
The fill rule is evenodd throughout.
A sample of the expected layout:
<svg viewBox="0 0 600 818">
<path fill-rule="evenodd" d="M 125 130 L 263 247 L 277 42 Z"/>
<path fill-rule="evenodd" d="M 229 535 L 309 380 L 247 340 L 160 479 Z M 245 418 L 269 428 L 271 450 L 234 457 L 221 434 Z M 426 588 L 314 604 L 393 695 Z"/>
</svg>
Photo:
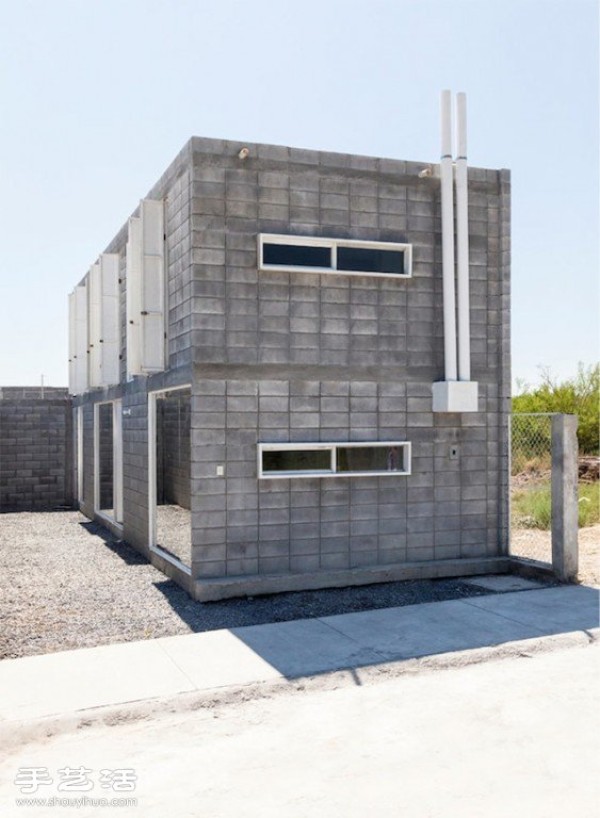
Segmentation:
<svg viewBox="0 0 600 818">
<path fill-rule="evenodd" d="M 287 244 L 303 247 L 328 247 L 331 249 L 331 267 L 304 267 L 301 264 L 266 264 L 264 262 L 265 244 Z M 403 273 L 361 272 L 360 270 L 338 270 L 338 247 L 358 247 L 366 250 L 397 250 L 404 253 Z M 276 233 L 259 233 L 258 235 L 258 269 L 263 272 L 281 273 L 315 273 L 316 275 L 368 276 L 372 278 L 412 278 L 412 244 L 391 241 L 361 241 L 358 239 L 330 239 L 314 236 L 290 236 Z"/>
</svg>

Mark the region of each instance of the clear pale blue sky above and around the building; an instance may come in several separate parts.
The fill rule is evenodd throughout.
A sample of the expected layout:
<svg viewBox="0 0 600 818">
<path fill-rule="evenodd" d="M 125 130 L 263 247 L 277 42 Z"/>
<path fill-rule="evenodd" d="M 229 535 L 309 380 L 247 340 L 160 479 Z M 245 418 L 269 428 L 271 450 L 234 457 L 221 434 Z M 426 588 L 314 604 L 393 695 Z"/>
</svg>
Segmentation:
<svg viewBox="0 0 600 818">
<path fill-rule="evenodd" d="M 513 375 L 598 359 L 595 0 L 18 0 L 0 30 L 0 385 L 67 381 L 67 293 L 191 135 L 512 171 Z"/>
</svg>

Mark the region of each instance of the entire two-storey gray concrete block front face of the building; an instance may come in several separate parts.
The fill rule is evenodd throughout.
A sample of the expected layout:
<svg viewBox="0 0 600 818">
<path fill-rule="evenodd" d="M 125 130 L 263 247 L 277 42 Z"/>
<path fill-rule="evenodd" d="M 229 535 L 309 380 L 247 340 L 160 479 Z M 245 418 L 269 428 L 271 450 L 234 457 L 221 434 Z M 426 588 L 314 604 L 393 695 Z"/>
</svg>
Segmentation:
<svg viewBox="0 0 600 818">
<path fill-rule="evenodd" d="M 439 181 L 419 180 L 416 163 L 254 145 L 240 163 L 240 147 L 193 140 L 193 575 L 505 553 L 507 173 L 469 172 L 480 411 L 434 415 L 431 385 L 444 372 Z M 409 242 L 413 278 L 259 273 L 260 232 Z M 412 442 L 410 477 L 257 481 L 258 441 L 386 438 Z"/>
</svg>

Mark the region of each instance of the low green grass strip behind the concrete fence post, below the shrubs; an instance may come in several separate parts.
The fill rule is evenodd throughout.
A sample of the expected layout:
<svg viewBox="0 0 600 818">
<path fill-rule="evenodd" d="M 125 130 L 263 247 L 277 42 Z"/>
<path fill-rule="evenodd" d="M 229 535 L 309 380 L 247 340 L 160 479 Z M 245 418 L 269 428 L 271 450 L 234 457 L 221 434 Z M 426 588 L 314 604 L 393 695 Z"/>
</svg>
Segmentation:
<svg viewBox="0 0 600 818">
<path fill-rule="evenodd" d="M 550 528 L 550 483 L 513 492 L 511 503 L 515 528 Z M 600 483 L 580 483 L 579 527 L 596 523 L 600 523 Z"/>
</svg>

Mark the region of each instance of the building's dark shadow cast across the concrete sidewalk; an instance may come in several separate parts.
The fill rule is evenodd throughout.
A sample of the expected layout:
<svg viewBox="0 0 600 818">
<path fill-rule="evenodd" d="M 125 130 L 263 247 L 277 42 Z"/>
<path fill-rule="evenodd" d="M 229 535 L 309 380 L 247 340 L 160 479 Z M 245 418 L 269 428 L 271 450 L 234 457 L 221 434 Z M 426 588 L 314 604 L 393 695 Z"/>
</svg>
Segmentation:
<svg viewBox="0 0 600 818">
<path fill-rule="evenodd" d="M 561 634 L 583 633 L 591 642 L 591 631 L 599 626 L 598 610 L 596 589 L 572 585 L 235 628 L 232 633 L 294 679 Z"/>
</svg>

